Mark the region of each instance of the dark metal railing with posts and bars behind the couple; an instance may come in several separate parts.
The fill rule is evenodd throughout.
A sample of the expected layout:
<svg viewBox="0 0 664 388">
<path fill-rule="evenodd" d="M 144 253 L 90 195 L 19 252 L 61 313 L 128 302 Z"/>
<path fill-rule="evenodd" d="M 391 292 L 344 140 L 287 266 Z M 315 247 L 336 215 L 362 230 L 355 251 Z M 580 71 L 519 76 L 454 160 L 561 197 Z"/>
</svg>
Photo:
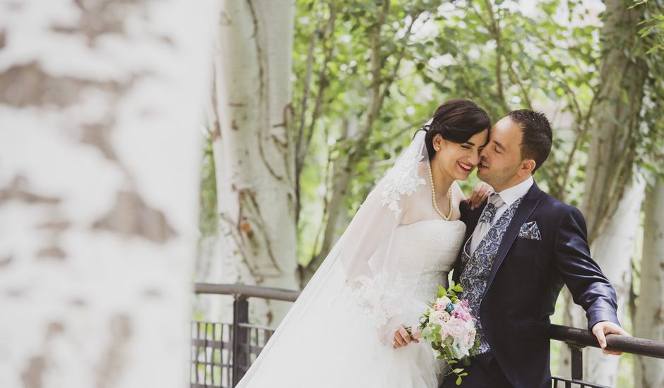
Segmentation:
<svg viewBox="0 0 664 388">
<path fill-rule="evenodd" d="M 192 322 L 191 388 L 232 388 L 242 380 L 251 363 L 274 333 L 271 327 L 249 324 L 248 298 L 295 302 L 299 291 L 271 289 L 242 284 L 195 284 L 197 294 L 232 296 L 233 322 Z M 571 351 L 571 378 L 552 377 L 552 386 L 607 388 L 583 381 L 583 348 L 599 348 L 595 336 L 586 329 L 551 325 L 550 339 L 563 341 Z M 607 349 L 639 356 L 664 358 L 664 342 L 615 334 L 606 336 Z"/>
</svg>

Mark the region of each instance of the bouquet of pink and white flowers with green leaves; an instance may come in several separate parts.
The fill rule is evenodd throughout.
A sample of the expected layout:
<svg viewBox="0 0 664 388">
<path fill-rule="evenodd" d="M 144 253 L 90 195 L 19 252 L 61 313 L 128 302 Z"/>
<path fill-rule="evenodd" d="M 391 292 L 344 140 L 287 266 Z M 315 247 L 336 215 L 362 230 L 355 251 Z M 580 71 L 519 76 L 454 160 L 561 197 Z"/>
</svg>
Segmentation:
<svg viewBox="0 0 664 388">
<path fill-rule="evenodd" d="M 427 303 L 429 309 L 420 317 L 422 338 L 437 351 L 437 358 L 446 360 L 450 367 L 447 375 L 456 375 L 456 384 L 468 373 L 463 368 L 454 368 L 461 361 L 470 365 L 470 356 L 475 356 L 480 347 L 480 338 L 475 327 L 475 318 L 470 315 L 468 301 L 460 300 L 456 294 L 463 291 L 461 285 L 452 282 L 449 289 L 438 286 L 436 299 Z M 406 327 L 413 336 L 413 328 Z"/>
</svg>

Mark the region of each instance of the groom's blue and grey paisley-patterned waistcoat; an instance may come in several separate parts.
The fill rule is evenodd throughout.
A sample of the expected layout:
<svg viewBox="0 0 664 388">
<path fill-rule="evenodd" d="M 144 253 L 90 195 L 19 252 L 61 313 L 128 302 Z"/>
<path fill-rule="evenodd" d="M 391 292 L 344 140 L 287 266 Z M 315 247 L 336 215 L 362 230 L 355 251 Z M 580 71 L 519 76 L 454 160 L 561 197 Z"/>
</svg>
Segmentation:
<svg viewBox="0 0 664 388">
<path fill-rule="evenodd" d="M 463 264 L 463 271 L 461 271 L 461 287 L 463 287 L 463 294 L 461 298 L 468 301 L 468 306 L 477 319 L 478 335 L 480 336 L 480 353 L 486 353 L 490 350 L 489 344 L 482 329 L 482 322 L 480 322 L 480 303 L 487 288 L 487 281 L 493 268 L 494 258 L 498 253 L 500 242 L 507 231 L 507 226 L 514 217 L 518 205 L 521 204 L 521 198 L 516 200 L 508 210 L 506 210 L 498 219 L 497 222 L 491 226 L 487 234 L 482 238 L 478 248 L 471 255 L 468 253 L 469 242 L 473 238 L 471 235 L 463 245 L 461 253 L 461 262 Z"/>
</svg>

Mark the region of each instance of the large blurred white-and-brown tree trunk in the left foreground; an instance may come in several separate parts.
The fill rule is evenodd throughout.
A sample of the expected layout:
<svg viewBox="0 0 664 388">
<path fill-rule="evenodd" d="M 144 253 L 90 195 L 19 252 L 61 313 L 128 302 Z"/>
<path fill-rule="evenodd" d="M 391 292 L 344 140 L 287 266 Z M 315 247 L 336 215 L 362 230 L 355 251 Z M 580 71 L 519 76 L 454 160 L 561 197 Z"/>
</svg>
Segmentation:
<svg viewBox="0 0 664 388">
<path fill-rule="evenodd" d="M 186 384 L 213 4 L 0 6 L 2 387 Z"/>
</svg>

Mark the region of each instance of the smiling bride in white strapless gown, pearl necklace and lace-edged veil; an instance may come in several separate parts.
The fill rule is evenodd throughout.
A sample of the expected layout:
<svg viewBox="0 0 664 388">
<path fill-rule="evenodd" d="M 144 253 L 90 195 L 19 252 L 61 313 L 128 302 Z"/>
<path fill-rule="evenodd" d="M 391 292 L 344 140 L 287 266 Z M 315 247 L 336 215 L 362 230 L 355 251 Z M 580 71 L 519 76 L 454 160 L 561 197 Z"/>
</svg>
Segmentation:
<svg viewBox="0 0 664 388">
<path fill-rule="evenodd" d="M 394 348 L 447 285 L 466 226 L 458 204 L 487 143 L 474 102 L 442 104 L 381 178 L 237 387 L 437 388 L 422 341 Z M 482 188 L 485 190 L 486 188 Z M 482 198 L 483 199 L 483 198 Z M 415 340 L 417 341 L 417 340 Z"/>
</svg>

